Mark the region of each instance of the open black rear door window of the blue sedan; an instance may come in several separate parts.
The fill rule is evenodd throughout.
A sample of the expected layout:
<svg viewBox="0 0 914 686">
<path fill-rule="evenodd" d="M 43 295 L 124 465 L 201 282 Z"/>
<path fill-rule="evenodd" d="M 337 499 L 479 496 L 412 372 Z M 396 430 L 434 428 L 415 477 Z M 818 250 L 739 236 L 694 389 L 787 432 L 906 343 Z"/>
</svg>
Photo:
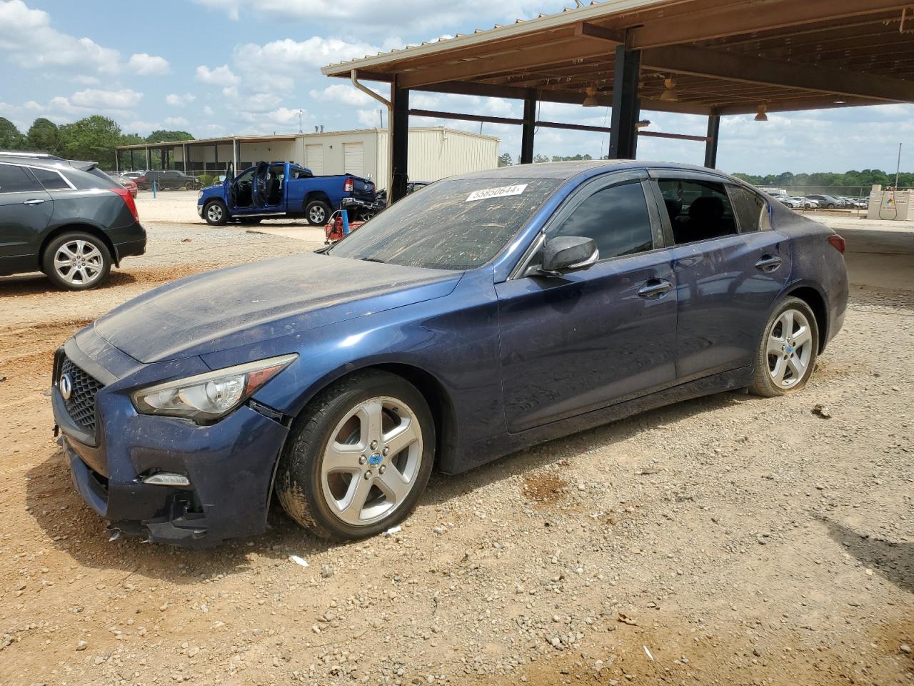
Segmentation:
<svg viewBox="0 0 914 686">
<path fill-rule="evenodd" d="M 707 241 L 737 232 L 727 189 L 716 181 L 663 178 L 658 181 L 676 245 Z"/>
</svg>

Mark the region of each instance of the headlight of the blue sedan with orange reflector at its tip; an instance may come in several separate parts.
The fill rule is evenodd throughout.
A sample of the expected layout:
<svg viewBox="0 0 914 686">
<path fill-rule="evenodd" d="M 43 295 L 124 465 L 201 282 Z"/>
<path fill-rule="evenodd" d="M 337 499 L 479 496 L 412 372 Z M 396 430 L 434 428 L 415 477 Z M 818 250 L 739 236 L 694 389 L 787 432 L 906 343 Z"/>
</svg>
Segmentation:
<svg viewBox="0 0 914 686">
<path fill-rule="evenodd" d="M 139 413 L 213 422 L 247 401 L 297 357 L 292 354 L 260 359 L 237 367 L 160 383 L 133 391 L 131 399 Z"/>
</svg>

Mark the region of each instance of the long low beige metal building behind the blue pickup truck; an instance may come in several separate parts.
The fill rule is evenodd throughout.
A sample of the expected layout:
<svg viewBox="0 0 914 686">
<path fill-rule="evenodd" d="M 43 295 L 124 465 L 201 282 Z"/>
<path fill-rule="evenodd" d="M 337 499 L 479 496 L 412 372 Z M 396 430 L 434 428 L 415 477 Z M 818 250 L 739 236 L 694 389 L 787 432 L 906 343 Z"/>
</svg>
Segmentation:
<svg viewBox="0 0 914 686">
<path fill-rule="evenodd" d="M 437 181 L 454 174 L 498 166 L 498 138 L 448 128 L 409 129 L 409 178 Z M 387 188 L 388 130 L 364 129 L 322 134 L 228 136 L 196 141 L 121 145 L 119 166 L 147 169 L 158 150 L 165 168 L 195 174 L 220 174 L 229 161 L 240 171 L 261 160 L 290 161 L 310 168 L 315 176 L 353 174 Z M 133 161 L 131 161 L 131 155 Z M 186 160 L 186 164 L 185 164 Z M 156 165 L 158 166 L 158 165 Z"/>
</svg>

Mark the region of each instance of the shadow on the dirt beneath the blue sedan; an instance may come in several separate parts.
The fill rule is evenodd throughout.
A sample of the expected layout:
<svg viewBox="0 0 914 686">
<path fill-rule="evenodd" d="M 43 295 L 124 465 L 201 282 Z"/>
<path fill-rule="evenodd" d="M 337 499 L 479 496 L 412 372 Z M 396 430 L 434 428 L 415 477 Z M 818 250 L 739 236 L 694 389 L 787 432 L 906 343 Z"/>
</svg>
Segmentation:
<svg viewBox="0 0 914 686">
<path fill-rule="evenodd" d="M 680 422 L 697 414 L 715 412 L 735 402 L 764 402 L 726 392 L 638 414 L 596 429 L 515 453 L 462 475 L 434 474 L 419 507 L 430 507 L 473 493 L 478 488 L 549 466 L 558 460 L 594 448 L 622 442 L 646 429 Z M 109 541 L 106 522 L 77 494 L 62 450 L 54 446 L 48 456 L 28 472 L 26 503 L 29 514 L 45 531 L 48 542 L 81 565 L 93 569 L 142 573 L 175 584 L 195 584 L 215 574 L 244 572 L 257 557 L 285 560 L 290 554 L 305 559 L 331 548 L 356 545 L 318 539 L 301 529 L 273 499 L 268 531 L 249 540 L 228 541 L 202 551 L 187 551 L 122 537 Z"/>
</svg>

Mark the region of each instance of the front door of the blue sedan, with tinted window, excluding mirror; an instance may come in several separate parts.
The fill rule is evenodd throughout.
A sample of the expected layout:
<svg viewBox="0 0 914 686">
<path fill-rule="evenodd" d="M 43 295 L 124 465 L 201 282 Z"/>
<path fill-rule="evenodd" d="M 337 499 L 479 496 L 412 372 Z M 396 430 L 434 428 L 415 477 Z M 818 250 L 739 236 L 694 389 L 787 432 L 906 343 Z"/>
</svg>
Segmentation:
<svg viewBox="0 0 914 686">
<path fill-rule="evenodd" d="M 592 238 L 600 261 L 564 276 L 535 272 L 541 247 L 496 284 L 505 419 L 519 432 L 675 382 L 675 274 L 646 174 L 590 182 L 547 224 Z"/>
</svg>

